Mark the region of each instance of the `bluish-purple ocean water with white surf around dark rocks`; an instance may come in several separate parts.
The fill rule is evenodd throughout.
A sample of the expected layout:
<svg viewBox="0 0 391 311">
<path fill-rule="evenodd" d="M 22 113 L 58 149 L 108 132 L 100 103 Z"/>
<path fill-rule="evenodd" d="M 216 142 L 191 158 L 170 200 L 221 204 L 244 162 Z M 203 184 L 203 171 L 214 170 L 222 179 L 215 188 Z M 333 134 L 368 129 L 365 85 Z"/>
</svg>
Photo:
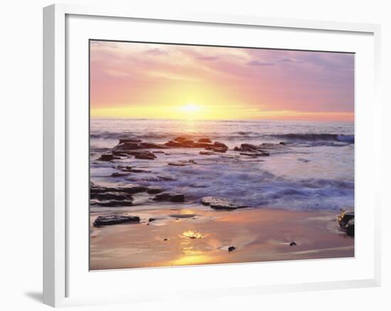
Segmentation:
<svg viewBox="0 0 391 311">
<path fill-rule="evenodd" d="M 230 150 L 200 155 L 200 148 L 171 148 L 168 154 L 156 153 L 154 160 L 97 161 L 119 138 L 165 143 L 177 136 L 194 141 L 207 137 L 225 143 Z M 183 193 L 185 204 L 193 205 L 202 197 L 215 196 L 254 208 L 352 208 L 354 138 L 353 122 L 92 119 L 90 180 L 97 185 L 156 185 Z M 283 148 L 270 150 L 268 157 L 251 158 L 232 150 L 241 143 L 279 142 L 285 143 Z M 167 165 L 178 160 L 194 160 L 196 164 Z M 112 177 L 117 165 L 132 165 L 146 172 Z"/>
</svg>

